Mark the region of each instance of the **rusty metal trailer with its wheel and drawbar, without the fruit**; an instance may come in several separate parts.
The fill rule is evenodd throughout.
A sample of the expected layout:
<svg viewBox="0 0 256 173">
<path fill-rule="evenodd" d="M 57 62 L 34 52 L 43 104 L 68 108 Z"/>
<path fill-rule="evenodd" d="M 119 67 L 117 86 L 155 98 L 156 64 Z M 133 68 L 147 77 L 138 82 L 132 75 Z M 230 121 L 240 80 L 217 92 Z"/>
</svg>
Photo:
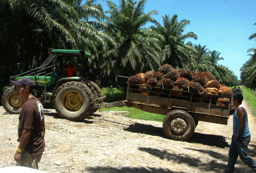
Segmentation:
<svg viewBox="0 0 256 173">
<path fill-rule="evenodd" d="M 219 98 L 228 98 L 229 101 L 220 101 Z M 124 105 L 166 115 L 163 120 L 165 135 L 173 140 L 186 141 L 193 135 L 198 121 L 227 125 L 231 97 L 128 83 L 126 100 L 103 103 L 102 107 Z"/>
</svg>

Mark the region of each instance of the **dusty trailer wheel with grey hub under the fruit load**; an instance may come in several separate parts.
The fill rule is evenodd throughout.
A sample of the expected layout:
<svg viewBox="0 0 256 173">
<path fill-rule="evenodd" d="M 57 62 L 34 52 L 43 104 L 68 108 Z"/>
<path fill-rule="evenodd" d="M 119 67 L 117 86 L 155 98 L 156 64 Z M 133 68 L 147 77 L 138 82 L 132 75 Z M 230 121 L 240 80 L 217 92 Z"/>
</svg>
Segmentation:
<svg viewBox="0 0 256 173">
<path fill-rule="evenodd" d="M 188 112 L 174 110 L 169 112 L 164 118 L 163 131 L 170 139 L 186 141 L 195 131 L 195 121 Z"/>
</svg>

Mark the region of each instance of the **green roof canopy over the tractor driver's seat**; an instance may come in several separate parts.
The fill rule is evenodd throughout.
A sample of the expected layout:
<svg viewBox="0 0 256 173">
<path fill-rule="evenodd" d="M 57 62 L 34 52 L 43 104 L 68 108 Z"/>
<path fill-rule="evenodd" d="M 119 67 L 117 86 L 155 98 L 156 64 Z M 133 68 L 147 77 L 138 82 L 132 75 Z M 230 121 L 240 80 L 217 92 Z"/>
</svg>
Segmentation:
<svg viewBox="0 0 256 173">
<path fill-rule="evenodd" d="M 52 49 L 52 48 L 49 48 L 49 54 L 73 56 L 73 57 L 80 57 L 80 58 L 90 58 L 92 56 L 86 51 L 68 50 L 68 49 Z"/>
</svg>

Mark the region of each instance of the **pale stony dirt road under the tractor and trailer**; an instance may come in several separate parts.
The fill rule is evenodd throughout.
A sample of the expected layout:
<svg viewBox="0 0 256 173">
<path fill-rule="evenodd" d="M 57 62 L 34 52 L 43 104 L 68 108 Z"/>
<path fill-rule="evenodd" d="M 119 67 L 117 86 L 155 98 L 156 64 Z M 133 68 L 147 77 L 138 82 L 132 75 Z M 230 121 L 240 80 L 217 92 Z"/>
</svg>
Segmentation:
<svg viewBox="0 0 256 173">
<path fill-rule="evenodd" d="M 256 123 L 249 113 L 249 156 L 256 160 Z M 47 173 L 217 173 L 226 166 L 233 118 L 228 125 L 199 122 L 189 141 L 166 138 L 162 123 L 96 112 L 82 122 L 45 109 L 46 148 L 39 163 Z M 15 165 L 18 115 L 0 106 L 0 167 Z M 238 159 L 236 173 L 253 171 Z"/>
</svg>

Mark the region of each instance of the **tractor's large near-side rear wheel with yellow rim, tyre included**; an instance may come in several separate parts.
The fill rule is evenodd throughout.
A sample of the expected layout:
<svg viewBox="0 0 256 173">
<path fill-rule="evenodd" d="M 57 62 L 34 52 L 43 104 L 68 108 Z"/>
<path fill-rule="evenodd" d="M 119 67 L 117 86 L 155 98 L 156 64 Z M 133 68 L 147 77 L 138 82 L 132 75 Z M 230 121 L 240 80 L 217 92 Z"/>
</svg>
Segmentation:
<svg viewBox="0 0 256 173">
<path fill-rule="evenodd" d="M 55 93 L 54 106 L 63 119 L 83 120 L 93 110 L 93 93 L 85 83 L 63 83 Z"/>
</svg>

